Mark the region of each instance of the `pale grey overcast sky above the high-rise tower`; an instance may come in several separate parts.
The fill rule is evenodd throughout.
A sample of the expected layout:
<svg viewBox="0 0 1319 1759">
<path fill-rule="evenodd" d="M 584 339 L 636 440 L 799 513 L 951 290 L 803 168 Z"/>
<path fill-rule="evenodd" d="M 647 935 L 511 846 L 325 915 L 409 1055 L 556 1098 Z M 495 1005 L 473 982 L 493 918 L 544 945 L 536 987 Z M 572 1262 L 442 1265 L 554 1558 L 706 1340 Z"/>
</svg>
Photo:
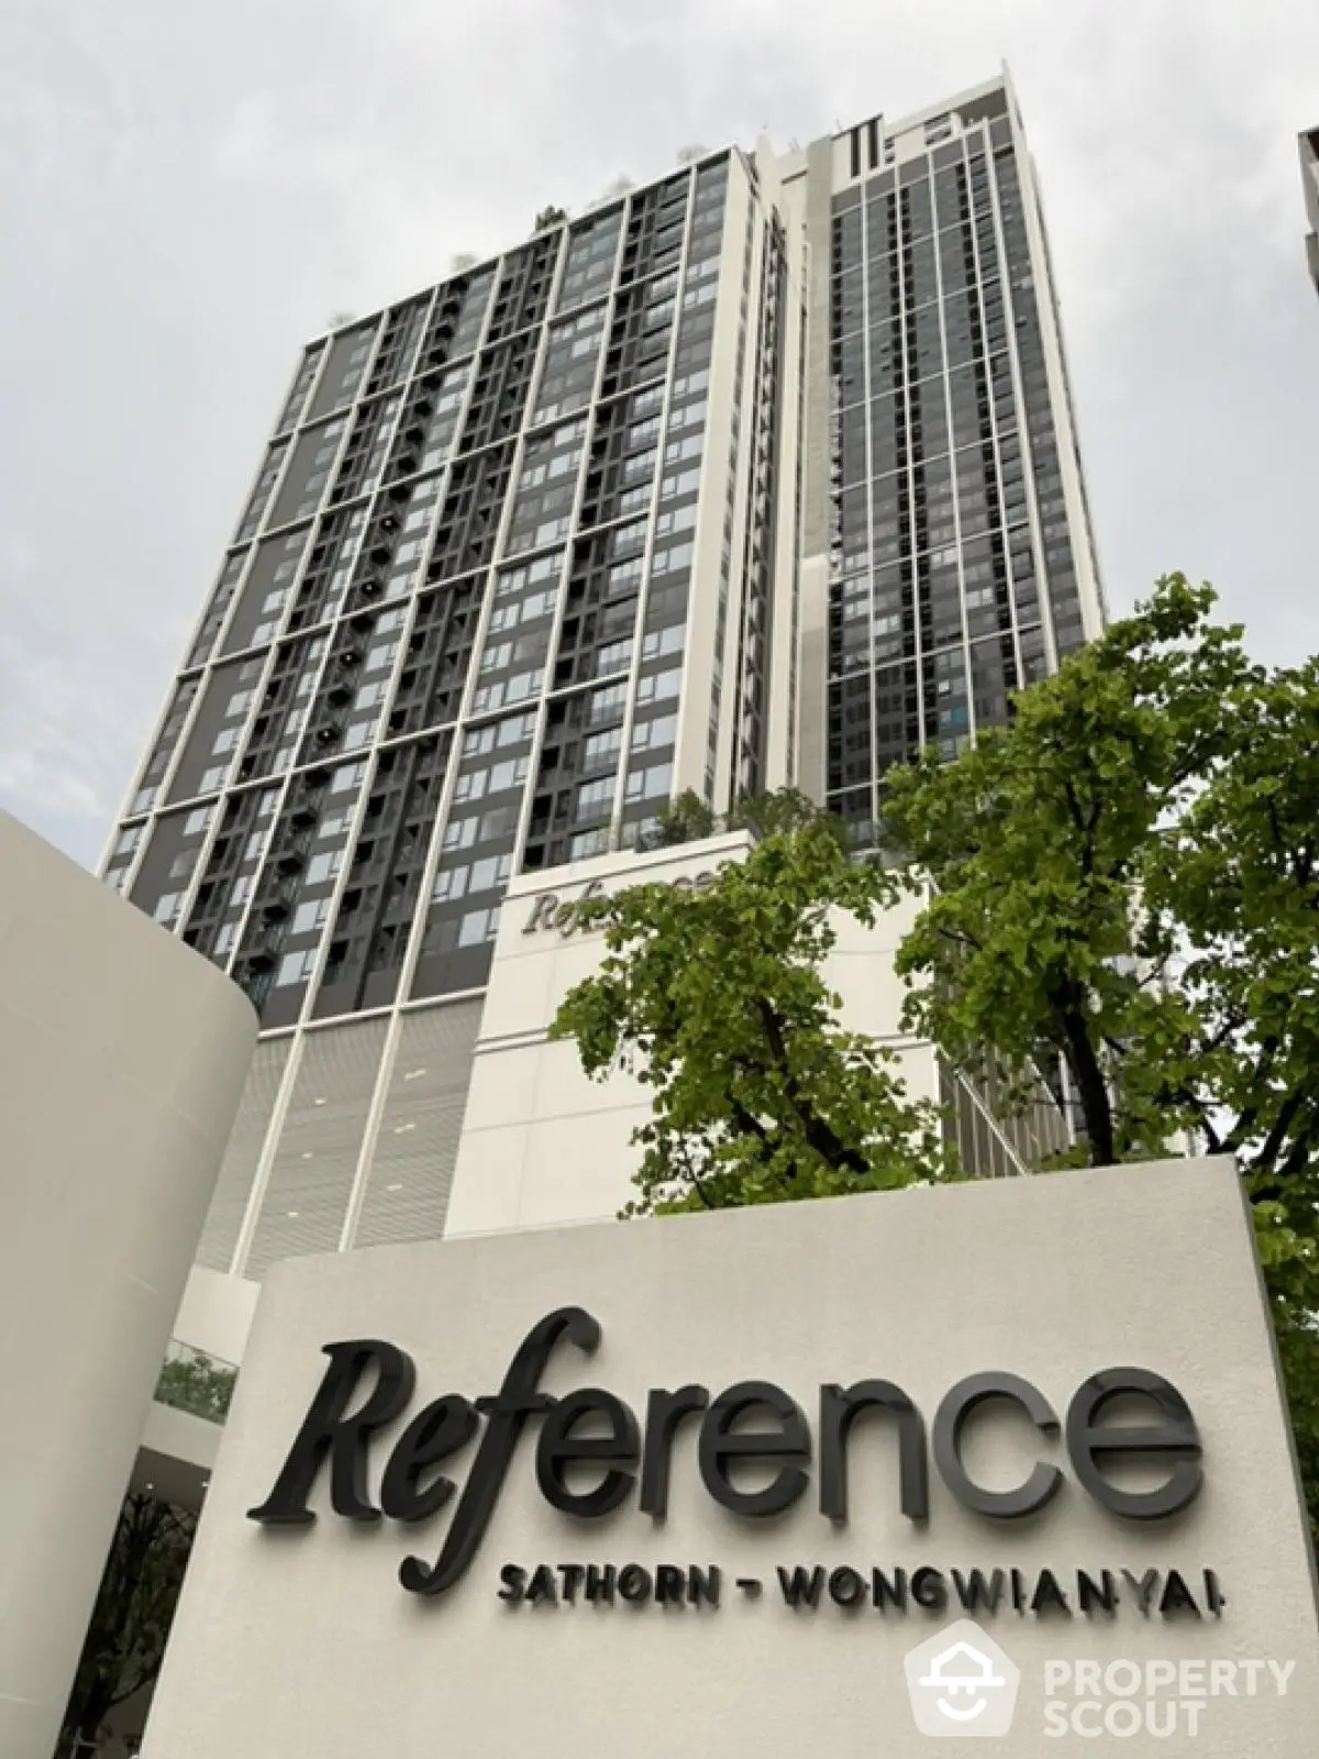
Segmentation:
<svg viewBox="0 0 1319 1759">
<path fill-rule="evenodd" d="M 11 0 L 0 806 L 95 862 L 301 343 L 679 148 L 1013 70 L 1101 565 L 1319 647 L 1315 0 Z"/>
</svg>

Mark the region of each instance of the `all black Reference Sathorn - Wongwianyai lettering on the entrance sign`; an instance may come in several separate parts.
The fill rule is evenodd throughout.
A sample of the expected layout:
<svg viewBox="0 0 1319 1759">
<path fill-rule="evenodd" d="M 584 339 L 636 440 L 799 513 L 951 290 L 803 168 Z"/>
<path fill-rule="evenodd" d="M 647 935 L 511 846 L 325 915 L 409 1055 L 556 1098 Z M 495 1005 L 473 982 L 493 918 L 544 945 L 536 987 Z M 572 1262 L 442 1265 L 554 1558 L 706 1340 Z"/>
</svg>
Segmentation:
<svg viewBox="0 0 1319 1759">
<path fill-rule="evenodd" d="M 820 1514 L 832 1525 L 848 1522 L 848 1441 L 862 1414 L 878 1414 L 895 1437 L 899 1462 L 899 1509 L 923 1527 L 930 1514 L 930 1462 L 953 1499 L 967 1511 L 995 1522 L 1020 1522 L 1043 1509 L 1064 1485 L 1060 1465 L 1038 1458 L 1022 1481 L 1008 1490 L 980 1483 L 964 1460 L 964 1432 L 974 1412 L 1008 1405 L 1034 1427 L 1043 1444 L 1064 1442 L 1071 1474 L 1104 1511 L 1122 1520 L 1152 1522 L 1178 1514 L 1201 1492 L 1201 1444 L 1196 1421 L 1182 1393 L 1147 1369 L 1103 1369 L 1087 1376 L 1071 1395 L 1066 1421 L 1031 1381 L 1009 1372 L 973 1374 L 951 1386 L 929 1428 L 907 1393 L 893 1381 L 862 1379 L 851 1386 L 820 1386 L 818 1416 L 772 1381 L 739 1381 L 711 1395 L 709 1388 L 686 1384 L 652 1388 L 644 1416 L 616 1393 L 598 1386 L 563 1397 L 542 1391 L 550 1356 L 561 1344 L 591 1354 L 600 1344 L 600 1321 L 582 1307 L 559 1307 L 540 1319 L 522 1339 L 503 1386 L 470 1398 L 443 1393 L 412 1414 L 383 1460 L 378 1500 L 371 1492 L 378 1432 L 408 1414 L 417 1386 L 412 1356 L 382 1339 L 352 1339 L 325 1344 L 329 1367 L 315 1393 L 288 1456 L 266 1500 L 250 1509 L 262 1525 L 304 1527 L 315 1522 L 308 1499 L 317 1479 L 329 1474 L 329 1499 L 336 1514 L 350 1522 L 380 1522 L 382 1516 L 412 1525 L 431 1518 L 457 1493 L 438 1557 L 427 1562 L 408 1557 L 399 1569 L 406 1590 L 440 1595 L 471 1566 L 505 1490 L 517 1441 L 529 1418 L 540 1420 L 535 1451 L 536 1488 L 543 1500 L 579 1522 L 594 1522 L 623 1509 L 635 1495 L 637 1509 L 661 1523 L 668 1513 L 681 1430 L 695 1432 L 696 1472 L 705 1492 L 732 1514 L 751 1522 L 784 1514 L 811 1488 Z M 1110 1405 L 1143 1405 L 1154 1421 L 1113 1421 Z M 475 1458 L 461 1492 L 438 1471 L 441 1463 L 477 1441 Z M 1129 1488 L 1110 1476 L 1110 1467 L 1140 1462 L 1157 1467 L 1159 1479 Z M 760 1465 L 769 1474 L 749 1488 L 742 1467 Z M 587 1483 L 582 1481 L 587 1474 Z M 1111 1611 L 1120 1594 L 1113 1571 L 1089 1576 L 1076 1573 L 1075 1595 L 1083 1613 Z M 1143 1609 L 1196 1611 L 1192 1590 L 1178 1571 L 1147 1571 L 1136 1578 L 1120 1573 Z M 858 1606 L 906 1611 L 909 1604 L 941 1609 L 960 1599 L 969 1609 L 1071 1615 L 1068 1592 L 1052 1571 L 1027 1576 L 1022 1571 L 943 1571 L 853 1567 L 827 1571 L 823 1566 L 777 1571 L 783 1599 L 790 1606 Z M 505 1566 L 501 1597 L 512 1604 L 550 1604 L 577 1599 L 658 1601 L 672 1604 L 718 1604 L 721 1573 L 638 1564 L 614 1566 Z M 591 1594 L 591 1581 L 598 1594 Z M 735 1587 L 756 1597 L 758 1578 L 739 1578 Z M 1222 1601 L 1212 1571 L 1205 1571 L 1205 1608 L 1219 1611 Z M 967 1595 L 971 1595 L 967 1602 Z"/>
</svg>

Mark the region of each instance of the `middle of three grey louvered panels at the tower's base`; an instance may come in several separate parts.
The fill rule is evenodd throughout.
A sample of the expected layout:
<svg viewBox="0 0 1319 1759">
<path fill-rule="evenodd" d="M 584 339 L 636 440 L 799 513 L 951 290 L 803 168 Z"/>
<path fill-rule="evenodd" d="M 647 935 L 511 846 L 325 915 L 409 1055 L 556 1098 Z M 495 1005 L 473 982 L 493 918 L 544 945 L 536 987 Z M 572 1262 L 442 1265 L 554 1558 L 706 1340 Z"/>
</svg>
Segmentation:
<svg viewBox="0 0 1319 1759">
<path fill-rule="evenodd" d="M 338 1249 L 383 1045 L 383 1020 L 308 1033 L 244 1275 Z"/>
</svg>

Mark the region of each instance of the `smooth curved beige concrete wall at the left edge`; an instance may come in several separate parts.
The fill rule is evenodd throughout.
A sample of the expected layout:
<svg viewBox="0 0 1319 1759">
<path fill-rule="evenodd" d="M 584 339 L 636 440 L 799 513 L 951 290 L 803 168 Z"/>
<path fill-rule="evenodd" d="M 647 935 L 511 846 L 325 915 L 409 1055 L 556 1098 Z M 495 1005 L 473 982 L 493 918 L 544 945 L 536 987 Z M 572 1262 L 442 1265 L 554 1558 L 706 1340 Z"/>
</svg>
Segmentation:
<svg viewBox="0 0 1319 1759">
<path fill-rule="evenodd" d="M 0 813 L 0 1754 L 49 1759 L 257 1022 Z"/>
</svg>

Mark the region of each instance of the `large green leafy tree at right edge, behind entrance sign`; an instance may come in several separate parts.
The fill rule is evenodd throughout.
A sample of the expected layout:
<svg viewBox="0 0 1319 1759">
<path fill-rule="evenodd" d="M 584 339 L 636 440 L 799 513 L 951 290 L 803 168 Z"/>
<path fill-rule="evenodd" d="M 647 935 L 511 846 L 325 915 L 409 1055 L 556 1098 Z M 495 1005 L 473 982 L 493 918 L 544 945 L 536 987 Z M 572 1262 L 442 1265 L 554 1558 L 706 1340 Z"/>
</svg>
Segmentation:
<svg viewBox="0 0 1319 1759">
<path fill-rule="evenodd" d="M 886 777 L 930 895 L 907 1024 L 1060 1068 L 1073 1156 L 1233 1154 L 1319 1511 L 1319 663 L 1266 668 L 1182 575 L 955 762 Z"/>
</svg>

